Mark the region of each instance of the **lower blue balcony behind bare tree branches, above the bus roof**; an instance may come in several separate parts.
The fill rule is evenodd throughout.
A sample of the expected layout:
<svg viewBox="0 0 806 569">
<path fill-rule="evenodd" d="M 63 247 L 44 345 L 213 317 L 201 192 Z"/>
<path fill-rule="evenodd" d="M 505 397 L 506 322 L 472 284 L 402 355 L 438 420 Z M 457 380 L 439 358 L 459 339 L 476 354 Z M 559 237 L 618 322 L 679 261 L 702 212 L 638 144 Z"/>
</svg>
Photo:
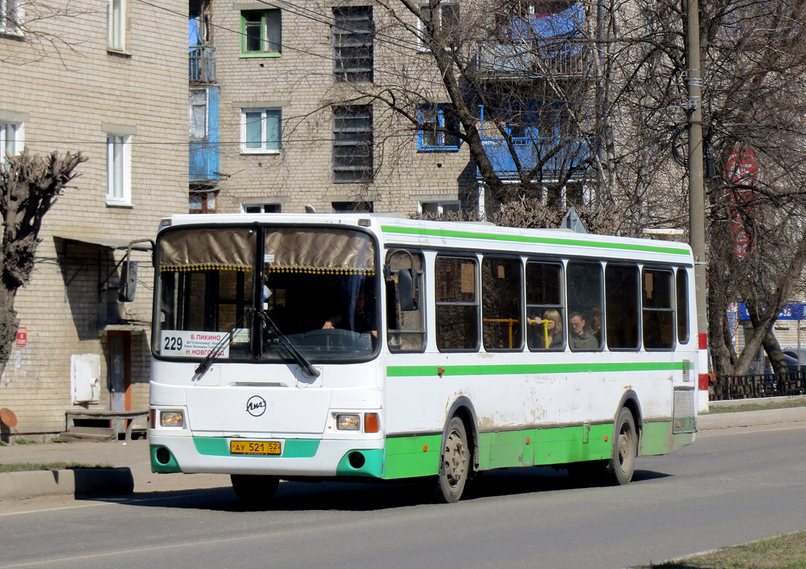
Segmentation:
<svg viewBox="0 0 806 569">
<path fill-rule="evenodd" d="M 501 138 L 482 140 L 490 163 L 501 179 L 518 179 L 515 159 Z M 521 170 L 530 171 L 538 165 L 542 156 L 555 153 L 542 166 L 542 179 L 579 179 L 587 174 L 584 162 L 590 156 L 588 142 L 580 138 L 513 139 L 515 155 Z M 559 147 L 559 148 L 558 148 Z"/>
</svg>

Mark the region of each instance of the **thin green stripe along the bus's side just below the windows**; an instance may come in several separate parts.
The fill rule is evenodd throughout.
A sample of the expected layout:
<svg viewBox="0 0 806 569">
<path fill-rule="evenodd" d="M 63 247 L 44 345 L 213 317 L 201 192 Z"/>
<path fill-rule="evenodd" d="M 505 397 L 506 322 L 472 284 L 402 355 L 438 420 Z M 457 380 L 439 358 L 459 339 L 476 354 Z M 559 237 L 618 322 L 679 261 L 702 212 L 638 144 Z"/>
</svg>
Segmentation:
<svg viewBox="0 0 806 569">
<path fill-rule="evenodd" d="M 389 365 L 387 377 L 426 377 L 438 365 Z M 683 370 L 682 361 L 618 361 L 576 364 L 442 365 L 442 375 L 523 375 L 526 373 L 597 373 Z"/>
</svg>

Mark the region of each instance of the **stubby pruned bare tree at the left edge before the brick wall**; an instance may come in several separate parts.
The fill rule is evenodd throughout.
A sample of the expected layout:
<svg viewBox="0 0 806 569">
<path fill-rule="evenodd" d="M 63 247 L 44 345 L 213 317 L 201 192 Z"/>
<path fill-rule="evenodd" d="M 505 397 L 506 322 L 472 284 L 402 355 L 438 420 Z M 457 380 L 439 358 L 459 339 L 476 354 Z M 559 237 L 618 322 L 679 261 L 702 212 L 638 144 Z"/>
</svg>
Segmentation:
<svg viewBox="0 0 806 569">
<path fill-rule="evenodd" d="M 19 327 L 15 298 L 19 288 L 31 280 L 44 215 L 76 178 L 75 168 L 86 161 L 81 152 L 40 156 L 27 149 L 6 159 L 7 165 L 0 162 L 0 375 Z"/>
</svg>

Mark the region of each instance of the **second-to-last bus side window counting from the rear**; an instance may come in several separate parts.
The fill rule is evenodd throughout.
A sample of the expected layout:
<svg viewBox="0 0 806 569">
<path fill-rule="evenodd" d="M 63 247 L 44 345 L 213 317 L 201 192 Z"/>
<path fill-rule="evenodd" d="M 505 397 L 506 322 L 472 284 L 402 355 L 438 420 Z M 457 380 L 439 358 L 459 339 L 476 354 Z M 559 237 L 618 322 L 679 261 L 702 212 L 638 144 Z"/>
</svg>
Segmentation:
<svg viewBox="0 0 806 569">
<path fill-rule="evenodd" d="M 644 348 L 675 347 L 675 310 L 671 304 L 671 270 L 644 270 Z"/>
</svg>

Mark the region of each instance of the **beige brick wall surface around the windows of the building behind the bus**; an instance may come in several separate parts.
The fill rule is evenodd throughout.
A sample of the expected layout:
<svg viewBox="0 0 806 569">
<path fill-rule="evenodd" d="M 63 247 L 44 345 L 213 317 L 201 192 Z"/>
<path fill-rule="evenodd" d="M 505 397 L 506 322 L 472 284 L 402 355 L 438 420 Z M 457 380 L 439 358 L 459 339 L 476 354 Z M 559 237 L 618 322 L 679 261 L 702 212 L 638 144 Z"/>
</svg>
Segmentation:
<svg viewBox="0 0 806 569">
<path fill-rule="evenodd" d="M 356 2 L 351 2 L 356 4 Z M 372 2 L 358 2 L 369 5 Z M 473 192 L 475 169 L 468 168 L 466 145 L 454 152 L 418 152 L 416 131 L 381 103 L 373 105 L 374 163 L 372 183 L 332 181 L 332 113 L 334 101 L 372 91 L 401 61 L 421 80 L 413 91 L 434 90 L 436 101 L 447 101 L 438 77 L 425 80 L 411 66 L 433 69 L 430 55 L 415 47 L 401 49 L 389 39 L 375 10 L 376 85 L 334 84 L 330 23 L 333 7 L 344 2 L 302 2 L 282 8 L 282 48 L 279 57 L 243 57 L 239 33 L 242 10 L 265 9 L 265 3 L 213 2 L 214 45 L 220 88 L 219 128 L 221 172 L 218 212 L 239 212 L 242 204 L 281 204 L 283 212 L 302 212 L 313 205 L 330 212 L 333 202 L 372 201 L 375 212 L 416 213 L 418 201 L 459 200 Z M 412 23 L 414 20 L 412 19 Z M 409 38 L 409 43 L 411 39 Z M 396 67 L 397 66 L 397 67 Z M 432 71 L 433 72 L 433 71 Z M 442 97 L 442 98 L 440 98 Z M 277 106 L 282 109 L 282 150 L 248 155 L 241 151 L 241 109 Z M 227 177 L 228 176 L 228 177 Z"/>
</svg>

